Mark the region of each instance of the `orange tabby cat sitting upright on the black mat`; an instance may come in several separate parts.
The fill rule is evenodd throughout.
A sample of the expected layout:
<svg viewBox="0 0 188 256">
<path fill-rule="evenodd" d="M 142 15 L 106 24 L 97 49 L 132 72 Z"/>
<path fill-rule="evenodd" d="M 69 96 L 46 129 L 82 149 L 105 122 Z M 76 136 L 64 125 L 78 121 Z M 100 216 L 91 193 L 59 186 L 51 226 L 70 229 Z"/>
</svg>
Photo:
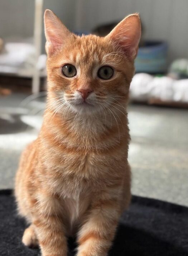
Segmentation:
<svg viewBox="0 0 188 256">
<path fill-rule="evenodd" d="M 43 256 L 105 256 L 130 202 L 126 105 L 140 39 L 138 14 L 106 37 L 76 36 L 45 11 L 48 98 L 38 138 L 16 175 L 23 243 Z"/>
</svg>

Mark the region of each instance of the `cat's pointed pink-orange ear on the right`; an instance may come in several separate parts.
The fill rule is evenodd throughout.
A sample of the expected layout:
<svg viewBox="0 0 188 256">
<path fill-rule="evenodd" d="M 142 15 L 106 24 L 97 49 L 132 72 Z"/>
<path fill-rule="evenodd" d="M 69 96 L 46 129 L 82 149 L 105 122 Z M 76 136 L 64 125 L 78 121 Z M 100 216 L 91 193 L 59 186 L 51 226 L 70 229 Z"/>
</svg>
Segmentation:
<svg viewBox="0 0 188 256">
<path fill-rule="evenodd" d="M 141 37 L 139 14 L 135 13 L 127 16 L 106 37 L 120 47 L 128 58 L 134 60 L 138 53 L 138 44 Z"/>
</svg>

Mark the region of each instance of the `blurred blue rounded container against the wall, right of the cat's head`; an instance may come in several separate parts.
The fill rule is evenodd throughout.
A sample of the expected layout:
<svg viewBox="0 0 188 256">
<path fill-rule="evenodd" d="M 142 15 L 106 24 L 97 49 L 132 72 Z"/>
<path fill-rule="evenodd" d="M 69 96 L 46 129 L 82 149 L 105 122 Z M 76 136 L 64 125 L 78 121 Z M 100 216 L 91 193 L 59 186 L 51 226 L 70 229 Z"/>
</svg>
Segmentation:
<svg viewBox="0 0 188 256">
<path fill-rule="evenodd" d="M 164 73 L 167 70 L 167 43 L 146 41 L 135 60 L 136 72 Z"/>
</svg>

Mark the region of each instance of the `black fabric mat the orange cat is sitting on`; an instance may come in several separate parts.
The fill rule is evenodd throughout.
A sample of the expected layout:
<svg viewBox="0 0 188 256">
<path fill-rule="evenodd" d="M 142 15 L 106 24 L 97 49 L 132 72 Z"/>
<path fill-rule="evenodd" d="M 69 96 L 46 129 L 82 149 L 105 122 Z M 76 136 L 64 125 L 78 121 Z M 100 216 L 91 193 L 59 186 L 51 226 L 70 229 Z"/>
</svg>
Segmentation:
<svg viewBox="0 0 188 256">
<path fill-rule="evenodd" d="M 39 249 L 21 243 L 26 226 L 16 214 L 11 194 L 11 190 L 0 191 L 0 255 L 39 256 Z M 69 256 L 75 246 L 70 239 Z M 188 208 L 133 196 L 109 256 L 188 256 Z"/>
</svg>

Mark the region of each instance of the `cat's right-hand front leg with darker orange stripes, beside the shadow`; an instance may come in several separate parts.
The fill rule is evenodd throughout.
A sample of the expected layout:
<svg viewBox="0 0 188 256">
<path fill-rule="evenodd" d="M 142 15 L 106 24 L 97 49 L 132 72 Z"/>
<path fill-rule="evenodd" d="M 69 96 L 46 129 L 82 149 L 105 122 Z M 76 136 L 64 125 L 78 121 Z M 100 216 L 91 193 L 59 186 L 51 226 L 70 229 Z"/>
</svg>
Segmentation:
<svg viewBox="0 0 188 256">
<path fill-rule="evenodd" d="M 115 194 L 117 195 L 117 194 Z M 78 232 L 77 256 L 106 256 L 121 215 L 117 197 L 101 195 L 92 203 L 87 219 Z"/>
</svg>

